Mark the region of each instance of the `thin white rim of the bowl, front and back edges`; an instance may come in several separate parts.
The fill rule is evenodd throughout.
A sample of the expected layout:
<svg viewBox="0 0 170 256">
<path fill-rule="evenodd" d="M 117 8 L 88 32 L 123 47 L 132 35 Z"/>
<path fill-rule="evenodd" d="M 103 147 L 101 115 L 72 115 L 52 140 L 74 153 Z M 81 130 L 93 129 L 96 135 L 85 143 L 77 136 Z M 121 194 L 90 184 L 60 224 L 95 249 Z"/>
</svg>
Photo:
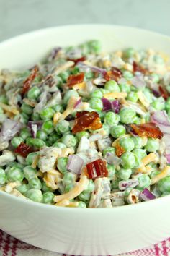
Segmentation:
<svg viewBox="0 0 170 256">
<path fill-rule="evenodd" d="M 11 44 L 11 43 L 14 43 L 15 41 L 17 40 L 20 40 L 20 39 L 27 39 L 27 37 L 29 38 L 30 36 L 32 35 L 37 35 L 37 34 L 41 34 L 41 33 L 45 33 L 45 32 L 48 32 L 50 30 L 55 30 L 55 29 L 62 29 L 62 28 L 69 28 L 69 27 L 110 27 L 110 28 L 117 28 L 117 29 L 125 29 L 125 30 L 136 30 L 136 31 L 139 31 L 139 32 L 143 32 L 143 33 L 150 33 L 151 35 L 158 35 L 158 36 L 161 36 L 162 38 L 165 38 L 166 40 L 170 40 L 170 35 L 164 35 L 162 33 L 158 33 L 158 32 L 155 32 L 155 31 L 152 31 L 152 30 L 146 30 L 146 29 L 143 29 L 143 28 L 138 28 L 138 27 L 131 27 L 131 26 L 125 26 L 125 25 L 114 25 L 114 24 L 104 24 L 104 23 L 83 23 L 83 24 L 71 24 L 71 25 L 58 25 L 58 26 L 50 26 L 50 27 L 45 27 L 45 28 L 41 28 L 41 29 L 38 29 L 38 30 L 31 30 L 27 33 L 21 33 L 19 35 L 14 35 L 14 37 L 12 38 L 7 38 L 5 40 L 2 40 L 0 42 L 0 47 L 1 46 L 5 46 L 5 45 L 8 45 L 8 44 Z M 169 46 L 170 47 L 170 46 Z M 165 200 L 167 200 L 168 198 L 170 198 L 170 195 L 166 195 L 164 197 L 158 197 L 154 200 L 149 200 L 149 201 L 146 201 L 146 202 L 140 202 L 140 203 L 137 203 L 137 204 L 130 204 L 130 205 L 121 205 L 121 206 L 116 206 L 116 207 L 113 207 L 113 208 L 69 208 L 69 207 L 63 207 L 63 206 L 60 206 L 60 207 L 56 207 L 55 205 L 48 205 L 48 204 L 44 204 L 42 202 L 34 202 L 32 200 L 29 200 L 27 197 L 26 199 L 22 198 L 22 197 L 17 197 L 15 195 L 11 195 L 7 192 L 4 192 L 2 190 L 0 190 L 0 196 L 4 196 L 6 197 L 6 199 L 10 199 L 10 200 L 15 200 L 16 202 L 22 202 L 24 204 L 27 204 L 27 205 L 30 205 L 30 206 L 34 206 L 34 207 L 40 207 L 40 208 L 48 208 L 48 209 L 56 209 L 56 210 L 67 210 L 67 211 L 75 211 L 76 210 L 76 213 L 79 212 L 79 211 L 86 211 L 86 214 L 87 213 L 91 213 L 91 210 L 95 212 L 101 212 L 101 211 L 119 211 L 120 209 L 123 210 L 128 210 L 129 208 L 136 208 L 137 210 L 140 208 L 140 207 L 143 207 L 143 204 L 146 205 L 153 205 L 153 204 L 156 204 L 158 201 L 161 201 L 161 202 L 164 202 Z M 161 203 L 160 202 L 160 203 Z"/>
</svg>

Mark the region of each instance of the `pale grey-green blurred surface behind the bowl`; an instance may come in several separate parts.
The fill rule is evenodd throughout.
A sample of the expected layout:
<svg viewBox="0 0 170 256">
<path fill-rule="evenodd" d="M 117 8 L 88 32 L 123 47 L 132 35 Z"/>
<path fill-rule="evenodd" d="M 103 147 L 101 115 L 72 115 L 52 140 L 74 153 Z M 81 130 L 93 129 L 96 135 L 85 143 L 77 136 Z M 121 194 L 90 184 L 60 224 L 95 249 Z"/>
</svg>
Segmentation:
<svg viewBox="0 0 170 256">
<path fill-rule="evenodd" d="M 0 41 L 42 27 L 81 23 L 170 35 L 170 0 L 0 0 Z"/>
</svg>

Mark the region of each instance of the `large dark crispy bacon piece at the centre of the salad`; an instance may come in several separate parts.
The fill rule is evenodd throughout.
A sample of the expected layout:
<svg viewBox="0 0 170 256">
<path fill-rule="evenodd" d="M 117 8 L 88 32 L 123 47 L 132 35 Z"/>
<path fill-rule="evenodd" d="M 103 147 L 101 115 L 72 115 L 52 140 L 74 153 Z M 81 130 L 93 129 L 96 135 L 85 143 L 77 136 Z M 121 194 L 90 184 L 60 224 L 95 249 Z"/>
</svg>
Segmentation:
<svg viewBox="0 0 170 256">
<path fill-rule="evenodd" d="M 81 132 L 86 129 L 99 129 L 102 127 L 102 123 L 99 118 L 99 114 L 97 112 L 92 111 L 81 111 L 77 112 L 75 124 L 73 126 L 72 132 Z"/>
</svg>

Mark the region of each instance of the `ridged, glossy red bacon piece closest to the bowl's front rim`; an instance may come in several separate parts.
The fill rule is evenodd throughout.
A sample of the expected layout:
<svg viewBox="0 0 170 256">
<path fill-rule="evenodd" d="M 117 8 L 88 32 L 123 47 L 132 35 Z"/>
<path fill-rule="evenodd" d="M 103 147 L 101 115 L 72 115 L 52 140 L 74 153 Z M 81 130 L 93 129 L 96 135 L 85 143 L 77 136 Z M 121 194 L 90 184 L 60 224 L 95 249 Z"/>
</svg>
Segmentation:
<svg viewBox="0 0 170 256">
<path fill-rule="evenodd" d="M 91 163 L 86 165 L 87 174 L 89 175 L 89 179 L 97 179 L 99 177 L 107 177 L 108 170 L 106 167 L 106 162 L 102 159 L 97 159 Z"/>
</svg>

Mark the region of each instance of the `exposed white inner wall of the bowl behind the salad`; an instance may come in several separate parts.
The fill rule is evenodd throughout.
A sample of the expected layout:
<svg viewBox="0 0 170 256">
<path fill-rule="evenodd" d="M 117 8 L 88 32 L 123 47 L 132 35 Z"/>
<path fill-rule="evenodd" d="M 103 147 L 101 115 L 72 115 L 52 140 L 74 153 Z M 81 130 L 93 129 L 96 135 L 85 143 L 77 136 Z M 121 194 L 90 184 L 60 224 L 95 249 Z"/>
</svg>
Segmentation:
<svg viewBox="0 0 170 256">
<path fill-rule="evenodd" d="M 72 46 L 91 39 L 101 40 L 104 51 L 133 46 L 170 55 L 170 38 L 165 35 L 115 25 L 67 25 L 37 30 L 0 43 L 0 69 L 31 67 L 55 46 Z"/>
</svg>

